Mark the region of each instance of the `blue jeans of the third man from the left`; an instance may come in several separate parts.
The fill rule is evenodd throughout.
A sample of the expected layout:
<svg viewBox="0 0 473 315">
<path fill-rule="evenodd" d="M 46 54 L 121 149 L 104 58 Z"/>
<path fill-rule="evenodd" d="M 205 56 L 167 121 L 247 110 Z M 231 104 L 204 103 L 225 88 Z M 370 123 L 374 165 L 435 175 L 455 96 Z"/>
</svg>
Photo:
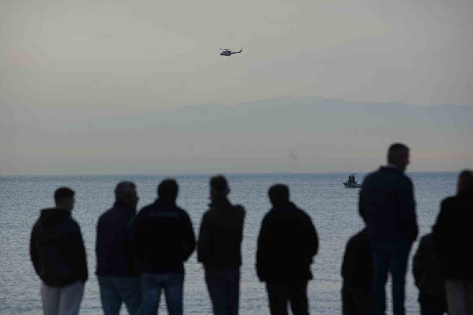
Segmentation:
<svg viewBox="0 0 473 315">
<path fill-rule="evenodd" d="M 183 287 L 184 273 L 142 273 L 140 315 L 158 313 L 161 289 L 164 289 L 166 296 L 167 313 L 182 315 Z"/>
</svg>

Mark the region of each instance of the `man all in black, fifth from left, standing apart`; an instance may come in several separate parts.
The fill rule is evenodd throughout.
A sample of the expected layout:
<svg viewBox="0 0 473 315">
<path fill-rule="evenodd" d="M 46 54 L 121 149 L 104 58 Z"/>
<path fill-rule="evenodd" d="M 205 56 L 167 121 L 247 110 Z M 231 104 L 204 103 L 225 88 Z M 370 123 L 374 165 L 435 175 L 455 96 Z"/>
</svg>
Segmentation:
<svg viewBox="0 0 473 315">
<path fill-rule="evenodd" d="M 272 315 L 287 315 L 288 301 L 294 315 L 307 315 L 317 233 L 307 213 L 289 201 L 288 186 L 276 184 L 268 193 L 273 208 L 264 216 L 258 237 L 258 278 L 266 282 Z"/>
</svg>

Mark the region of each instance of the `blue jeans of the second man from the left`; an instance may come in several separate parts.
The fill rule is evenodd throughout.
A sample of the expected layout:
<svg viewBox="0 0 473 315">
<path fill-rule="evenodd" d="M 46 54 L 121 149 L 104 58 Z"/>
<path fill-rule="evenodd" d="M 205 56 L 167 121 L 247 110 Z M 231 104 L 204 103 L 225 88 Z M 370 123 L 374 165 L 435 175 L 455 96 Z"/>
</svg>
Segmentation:
<svg viewBox="0 0 473 315">
<path fill-rule="evenodd" d="M 105 315 L 120 314 L 122 302 L 130 315 L 137 315 L 140 308 L 140 277 L 97 276 L 100 286 L 100 299 Z"/>
</svg>

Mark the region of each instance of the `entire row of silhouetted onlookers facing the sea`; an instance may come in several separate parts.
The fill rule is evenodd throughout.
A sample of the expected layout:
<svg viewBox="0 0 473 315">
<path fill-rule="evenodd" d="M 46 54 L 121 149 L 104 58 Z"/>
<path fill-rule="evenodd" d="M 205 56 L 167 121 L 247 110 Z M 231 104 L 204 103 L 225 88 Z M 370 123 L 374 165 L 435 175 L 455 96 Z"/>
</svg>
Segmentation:
<svg viewBox="0 0 473 315">
<path fill-rule="evenodd" d="M 418 235 L 411 179 L 404 174 L 409 148 L 395 143 L 387 165 L 365 177 L 359 214 L 366 227 L 348 241 L 342 262 L 342 314 L 384 315 L 385 284 L 392 282 L 394 315 L 405 314 L 408 257 Z M 105 315 L 118 315 L 124 303 L 130 315 L 156 315 L 164 289 L 169 315 L 182 315 L 184 261 L 197 250 L 215 315 L 238 314 L 241 242 L 245 208 L 228 200 L 223 175 L 210 178 L 210 204 L 196 241 L 188 213 L 176 205 L 178 184 L 165 179 L 158 198 L 136 206 L 136 185 L 115 188 L 113 207 L 99 218 L 96 276 Z M 272 209 L 262 221 L 256 273 L 264 281 L 272 315 L 309 314 L 307 283 L 318 250 L 310 216 L 289 199 L 289 188 L 269 188 Z M 71 218 L 74 191 L 61 187 L 55 208 L 41 211 L 30 239 L 30 255 L 41 279 L 45 315 L 79 313 L 88 279 L 79 225 Z M 423 236 L 413 258 L 422 315 L 473 315 L 473 172 L 464 170 L 457 194 L 441 203 L 432 233 Z"/>
</svg>

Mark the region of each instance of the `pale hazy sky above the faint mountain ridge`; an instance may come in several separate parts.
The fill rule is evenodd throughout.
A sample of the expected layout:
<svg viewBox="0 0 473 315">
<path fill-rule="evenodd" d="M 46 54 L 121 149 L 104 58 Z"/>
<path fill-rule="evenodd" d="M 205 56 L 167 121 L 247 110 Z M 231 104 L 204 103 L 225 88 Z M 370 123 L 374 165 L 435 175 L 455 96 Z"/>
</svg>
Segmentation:
<svg viewBox="0 0 473 315">
<path fill-rule="evenodd" d="M 2 0 L 0 174 L 77 161 L 58 121 L 279 96 L 473 104 L 472 21 L 471 0 Z"/>
</svg>

